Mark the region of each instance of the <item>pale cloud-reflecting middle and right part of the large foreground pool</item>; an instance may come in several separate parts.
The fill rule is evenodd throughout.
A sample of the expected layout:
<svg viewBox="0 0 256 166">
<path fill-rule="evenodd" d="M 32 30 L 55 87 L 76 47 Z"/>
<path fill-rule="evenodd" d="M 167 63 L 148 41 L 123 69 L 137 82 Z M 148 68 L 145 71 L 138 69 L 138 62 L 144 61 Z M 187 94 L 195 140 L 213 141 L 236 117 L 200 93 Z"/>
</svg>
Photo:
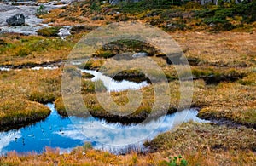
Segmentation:
<svg viewBox="0 0 256 166">
<path fill-rule="evenodd" d="M 196 117 L 195 109 L 176 112 L 166 117 L 160 117 L 149 123 L 131 124 L 129 126 L 120 123 L 107 123 L 105 120 L 96 120 L 93 117 L 84 120 L 83 118 L 72 118 L 73 124 L 67 126 L 59 135 L 73 140 L 96 142 L 95 148 L 102 149 L 119 148 L 131 145 L 142 145 L 144 140 L 151 140 L 161 132 L 173 129 L 180 123 L 195 121 L 207 123 L 208 121 Z M 186 114 L 186 116 L 184 116 Z M 185 117 L 183 119 L 183 117 Z M 153 130 L 155 129 L 155 130 Z"/>
</svg>

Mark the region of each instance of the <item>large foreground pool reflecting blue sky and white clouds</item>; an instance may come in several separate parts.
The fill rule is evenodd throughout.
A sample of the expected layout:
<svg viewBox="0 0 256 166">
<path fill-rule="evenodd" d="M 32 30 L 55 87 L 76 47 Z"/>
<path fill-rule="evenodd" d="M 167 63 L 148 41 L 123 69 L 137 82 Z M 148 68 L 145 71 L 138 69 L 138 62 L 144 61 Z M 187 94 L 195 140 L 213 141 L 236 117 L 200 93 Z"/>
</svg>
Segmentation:
<svg viewBox="0 0 256 166">
<path fill-rule="evenodd" d="M 151 121 L 148 125 L 125 126 L 120 123 L 106 123 L 104 120 L 93 117 L 72 117 L 71 121 L 67 117 L 63 118 L 58 115 L 53 104 L 47 106 L 52 112 L 44 121 L 18 130 L 1 132 L 0 153 L 13 150 L 16 152 L 43 152 L 45 146 L 60 147 L 62 151 L 70 151 L 75 146 L 82 146 L 84 141 L 92 142 L 92 145 L 98 149 L 112 149 L 119 152 L 126 147 L 127 143 L 141 146 L 143 140 L 150 140 L 160 132 L 171 129 L 173 120 L 182 113 L 160 117 L 165 119 Z M 205 122 L 196 117 L 197 112 L 193 109 L 187 110 L 185 113 L 187 114 L 185 121 Z M 176 118 L 174 118 L 175 116 Z M 153 132 L 152 126 L 159 125 L 158 123 L 161 121 L 163 123 L 160 123 L 159 128 Z M 145 135 L 148 137 L 144 138 Z"/>
</svg>

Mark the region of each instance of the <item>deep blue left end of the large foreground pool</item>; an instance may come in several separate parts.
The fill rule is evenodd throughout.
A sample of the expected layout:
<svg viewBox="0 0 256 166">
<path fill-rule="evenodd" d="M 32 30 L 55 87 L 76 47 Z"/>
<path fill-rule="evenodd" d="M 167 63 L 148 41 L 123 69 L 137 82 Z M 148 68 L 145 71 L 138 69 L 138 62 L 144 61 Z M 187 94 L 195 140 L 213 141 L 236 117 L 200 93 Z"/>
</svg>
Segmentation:
<svg viewBox="0 0 256 166">
<path fill-rule="evenodd" d="M 0 133 L 0 153 L 15 150 L 16 152 L 43 152 L 45 146 L 70 148 L 83 145 L 83 141 L 62 136 L 62 130 L 71 124 L 69 118 L 62 118 L 52 110 L 44 121 L 26 126 L 18 130 Z"/>
</svg>

